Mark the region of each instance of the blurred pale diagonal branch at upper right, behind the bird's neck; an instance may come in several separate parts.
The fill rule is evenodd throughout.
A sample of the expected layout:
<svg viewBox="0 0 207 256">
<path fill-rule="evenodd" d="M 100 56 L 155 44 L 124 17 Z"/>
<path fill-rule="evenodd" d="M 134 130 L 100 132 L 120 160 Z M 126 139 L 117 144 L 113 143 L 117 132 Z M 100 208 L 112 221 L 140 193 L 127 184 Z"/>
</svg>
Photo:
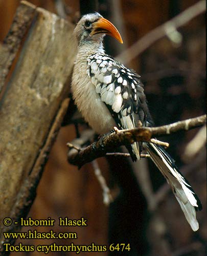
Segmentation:
<svg viewBox="0 0 207 256">
<path fill-rule="evenodd" d="M 154 44 L 154 42 L 166 35 L 169 36 L 170 34 L 174 33 L 177 28 L 187 24 L 191 19 L 195 18 L 203 12 L 205 12 L 205 1 L 201 0 L 168 22 L 143 36 L 140 40 L 136 41 L 130 48 L 122 52 L 116 58 L 120 61 L 123 61 L 124 63 L 129 63 L 137 55 L 141 54 L 152 44 Z"/>
</svg>

